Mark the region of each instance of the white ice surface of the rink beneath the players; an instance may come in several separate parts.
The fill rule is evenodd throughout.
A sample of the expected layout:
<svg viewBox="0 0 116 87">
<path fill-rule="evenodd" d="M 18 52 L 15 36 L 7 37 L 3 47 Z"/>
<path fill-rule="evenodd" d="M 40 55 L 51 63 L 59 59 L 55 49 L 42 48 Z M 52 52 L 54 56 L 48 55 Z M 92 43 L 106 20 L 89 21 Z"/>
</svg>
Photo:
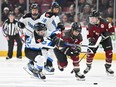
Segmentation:
<svg viewBox="0 0 116 87">
<path fill-rule="evenodd" d="M 94 60 L 91 71 L 85 75 L 85 81 L 78 81 L 71 74 L 72 61 L 68 60 L 68 66 L 63 72 L 57 68 L 54 60 L 54 75 L 46 75 L 46 82 L 32 78 L 23 67 L 26 66 L 28 59 L 16 58 L 6 60 L 0 57 L 0 87 L 116 87 L 116 61 L 113 61 L 112 69 L 114 76 L 107 76 L 104 68 L 104 60 Z M 86 67 L 85 59 L 80 63 L 81 72 Z M 94 83 L 97 83 L 95 85 Z"/>
</svg>

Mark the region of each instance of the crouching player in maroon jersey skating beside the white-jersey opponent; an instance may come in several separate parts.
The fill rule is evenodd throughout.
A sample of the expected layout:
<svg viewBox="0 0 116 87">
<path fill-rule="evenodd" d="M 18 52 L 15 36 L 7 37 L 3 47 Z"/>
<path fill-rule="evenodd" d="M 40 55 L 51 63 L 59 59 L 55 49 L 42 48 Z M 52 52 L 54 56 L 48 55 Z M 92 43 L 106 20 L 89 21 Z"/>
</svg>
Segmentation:
<svg viewBox="0 0 116 87">
<path fill-rule="evenodd" d="M 80 44 L 82 41 L 81 35 L 81 25 L 80 23 L 74 22 L 70 30 L 64 30 L 58 37 L 54 37 L 53 41 L 56 43 L 56 48 L 54 49 L 54 53 L 57 58 L 58 68 L 60 71 L 63 71 L 67 66 L 67 55 L 73 61 L 73 72 L 75 73 L 75 77 L 78 80 L 84 80 L 85 76 L 80 74 L 79 67 L 79 54 L 81 52 L 81 48 L 78 46 L 68 46 L 66 43 L 70 44 Z"/>
</svg>

